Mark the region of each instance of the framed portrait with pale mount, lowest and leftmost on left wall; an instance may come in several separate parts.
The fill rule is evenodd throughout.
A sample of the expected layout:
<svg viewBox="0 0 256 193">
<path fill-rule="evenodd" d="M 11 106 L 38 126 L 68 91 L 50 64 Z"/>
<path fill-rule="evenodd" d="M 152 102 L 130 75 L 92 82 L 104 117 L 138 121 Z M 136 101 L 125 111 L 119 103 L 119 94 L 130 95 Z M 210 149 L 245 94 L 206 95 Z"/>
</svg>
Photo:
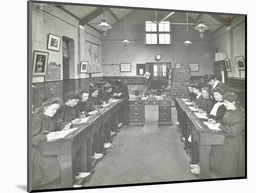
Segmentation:
<svg viewBox="0 0 256 193">
<path fill-rule="evenodd" d="M 49 52 L 34 50 L 33 76 L 45 76 L 47 70 Z"/>
</svg>

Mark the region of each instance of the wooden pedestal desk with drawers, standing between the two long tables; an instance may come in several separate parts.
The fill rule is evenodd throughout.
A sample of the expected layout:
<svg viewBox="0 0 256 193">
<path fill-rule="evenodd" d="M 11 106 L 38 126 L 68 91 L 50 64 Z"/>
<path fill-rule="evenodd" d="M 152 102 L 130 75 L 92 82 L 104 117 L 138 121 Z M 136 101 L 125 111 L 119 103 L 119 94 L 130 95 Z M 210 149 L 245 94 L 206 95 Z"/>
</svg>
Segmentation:
<svg viewBox="0 0 256 193">
<path fill-rule="evenodd" d="M 172 125 L 171 99 L 129 100 L 130 126 L 143 126 L 145 123 L 145 105 L 158 105 L 158 125 Z"/>
</svg>

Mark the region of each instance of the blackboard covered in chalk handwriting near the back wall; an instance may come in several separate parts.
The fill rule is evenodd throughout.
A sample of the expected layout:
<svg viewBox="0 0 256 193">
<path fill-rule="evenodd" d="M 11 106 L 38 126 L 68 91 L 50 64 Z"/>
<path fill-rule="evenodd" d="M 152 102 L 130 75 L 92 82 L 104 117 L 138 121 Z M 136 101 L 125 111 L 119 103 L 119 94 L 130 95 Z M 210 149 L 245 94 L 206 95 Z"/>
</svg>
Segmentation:
<svg viewBox="0 0 256 193">
<path fill-rule="evenodd" d="M 190 68 L 171 68 L 171 96 L 188 98 L 190 84 Z"/>
</svg>

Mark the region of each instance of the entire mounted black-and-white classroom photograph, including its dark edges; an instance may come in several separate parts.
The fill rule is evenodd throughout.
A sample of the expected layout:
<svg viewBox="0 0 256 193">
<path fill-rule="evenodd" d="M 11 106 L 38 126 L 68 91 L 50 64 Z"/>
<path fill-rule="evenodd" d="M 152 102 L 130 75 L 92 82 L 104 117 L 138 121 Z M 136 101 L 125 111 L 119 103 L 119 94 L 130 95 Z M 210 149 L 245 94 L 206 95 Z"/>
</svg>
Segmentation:
<svg viewBox="0 0 256 193">
<path fill-rule="evenodd" d="M 246 12 L 32 0 L 28 18 L 28 192 L 247 179 Z"/>
</svg>

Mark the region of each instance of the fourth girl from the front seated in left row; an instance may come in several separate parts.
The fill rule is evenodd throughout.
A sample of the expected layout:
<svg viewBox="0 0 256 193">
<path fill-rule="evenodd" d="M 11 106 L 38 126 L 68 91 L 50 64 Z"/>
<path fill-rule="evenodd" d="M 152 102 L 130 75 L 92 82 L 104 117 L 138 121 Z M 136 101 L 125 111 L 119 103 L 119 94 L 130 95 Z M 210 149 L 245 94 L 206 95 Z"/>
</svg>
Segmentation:
<svg viewBox="0 0 256 193">
<path fill-rule="evenodd" d="M 105 108 L 105 107 L 108 107 L 109 104 L 106 104 L 106 102 L 103 102 L 101 101 L 97 96 L 98 96 L 98 93 L 99 93 L 99 89 L 97 87 L 92 87 L 89 89 L 89 99 L 88 99 L 88 102 L 90 102 L 91 104 L 94 104 L 94 105 L 100 105 L 101 107 Z M 110 133 L 110 136 L 111 136 L 111 132 L 107 129 L 105 129 L 105 135 L 104 135 L 104 148 L 110 148 L 112 146 L 112 144 L 110 143 L 110 136 L 109 136 L 109 133 Z M 94 136 L 94 139 L 96 136 Z"/>
</svg>

